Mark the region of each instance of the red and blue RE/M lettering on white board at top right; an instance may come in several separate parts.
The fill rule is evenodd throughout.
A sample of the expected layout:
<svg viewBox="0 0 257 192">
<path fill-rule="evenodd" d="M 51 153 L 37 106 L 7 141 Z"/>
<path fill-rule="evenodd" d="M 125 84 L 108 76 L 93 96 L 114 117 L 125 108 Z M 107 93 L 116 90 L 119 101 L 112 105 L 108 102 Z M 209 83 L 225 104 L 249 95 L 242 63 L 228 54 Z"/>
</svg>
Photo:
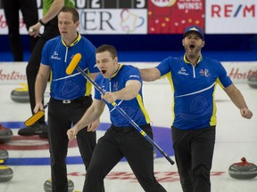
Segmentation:
<svg viewBox="0 0 257 192">
<path fill-rule="evenodd" d="M 255 4 L 212 4 L 211 17 L 212 18 L 232 18 L 232 17 L 255 17 Z"/>
</svg>

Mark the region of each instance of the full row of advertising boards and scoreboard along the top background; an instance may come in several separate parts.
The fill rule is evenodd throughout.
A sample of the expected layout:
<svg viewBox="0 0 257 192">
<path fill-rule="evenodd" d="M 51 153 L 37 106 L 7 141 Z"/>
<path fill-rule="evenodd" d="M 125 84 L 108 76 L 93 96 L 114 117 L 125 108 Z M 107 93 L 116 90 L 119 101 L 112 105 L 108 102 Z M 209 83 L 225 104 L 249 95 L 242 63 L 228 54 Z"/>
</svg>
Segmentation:
<svg viewBox="0 0 257 192">
<path fill-rule="evenodd" d="M 74 0 L 81 34 L 182 34 L 197 25 L 206 34 L 256 34 L 256 0 Z M 43 0 L 37 0 L 42 17 Z M 21 34 L 28 34 L 20 12 Z M 240 25 L 238 25 L 240 23 Z M 0 35 L 7 34 L 0 0 Z"/>
</svg>

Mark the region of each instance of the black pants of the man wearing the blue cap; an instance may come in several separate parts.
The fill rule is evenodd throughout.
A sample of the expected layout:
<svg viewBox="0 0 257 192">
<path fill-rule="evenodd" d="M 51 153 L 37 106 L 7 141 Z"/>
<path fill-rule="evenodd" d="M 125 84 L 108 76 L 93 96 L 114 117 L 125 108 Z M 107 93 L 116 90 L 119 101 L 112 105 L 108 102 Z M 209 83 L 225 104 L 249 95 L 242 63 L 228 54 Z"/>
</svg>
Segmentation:
<svg viewBox="0 0 257 192">
<path fill-rule="evenodd" d="M 215 126 L 188 131 L 172 126 L 173 148 L 183 192 L 211 192 L 215 132 Z"/>
</svg>

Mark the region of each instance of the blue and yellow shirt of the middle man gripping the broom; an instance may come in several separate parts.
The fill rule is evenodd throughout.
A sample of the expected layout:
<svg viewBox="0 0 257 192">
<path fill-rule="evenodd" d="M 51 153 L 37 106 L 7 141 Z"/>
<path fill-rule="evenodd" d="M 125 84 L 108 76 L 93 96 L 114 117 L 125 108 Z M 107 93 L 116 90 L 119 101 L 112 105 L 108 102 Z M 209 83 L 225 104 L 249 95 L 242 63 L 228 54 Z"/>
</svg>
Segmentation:
<svg viewBox="0 0 257 192">
<path fill-rule="evenodd" d="M 139 70 L 129 65 L 120 65 L 118 71 L 111 79 L 104 78 L 102 74 L 99 74 L 95 78 L 95 83 L 99 84 L 105 92 L 117 92 L 123 89 L 126 82 L 129 80 L 137 80 L 142 84 Z M 95 100 L 101 100 L 101 93 L 97 90 L 95 90 Z M 149 124 L 150 119 L 143 103 L 142 86 L 136 98 L 132 100 L 116 100 L 115 102 L 120 108 L 126 111 L 127 115 L 131 117 L 136 124 Z M 113 125 L 118 127 L 131 126 L 129 121 L 120 115 L 118 110 L 113 108 L 112 104 L 108 103 L 107 106 L 111 114 L 111 122 Z"/>
</svg>

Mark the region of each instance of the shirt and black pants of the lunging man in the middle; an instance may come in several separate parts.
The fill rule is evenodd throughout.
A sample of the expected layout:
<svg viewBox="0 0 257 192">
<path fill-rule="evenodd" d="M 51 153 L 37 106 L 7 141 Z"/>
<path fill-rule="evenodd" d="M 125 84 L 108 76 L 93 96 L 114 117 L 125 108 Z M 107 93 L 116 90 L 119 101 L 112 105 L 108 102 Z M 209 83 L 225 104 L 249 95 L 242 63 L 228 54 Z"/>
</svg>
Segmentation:
<svg viewBox="0 0 257 192">
<path fill-rule="evenodd" d="M 111 78 L 104 78 L 102 74 L 99 74 L 95 78 L 95 83 L 104 92 L 118 92 L 126 86 L 129 80 L 137 80 L 141 83 L 137 97 L 131 100 L 115 100 L 115 102 L 153 140 L 150 119 L 143 104 L 142 79 L 138 68 L 120 65 Z M 102 100 L 101 92 L 96 89 L 95 100 Z M 112 104 L 106 105 L 110 110 L 112 124 L 97 142 L 87 169 L 89 181 L 85 181 L 83 191 L 104 191 L 102 184 L 105 176 L 125 157 L 145 191 L 166 192 L 154 177 L 153 145 L 145 140 L 144 136 L 129 123 L 127 118 L 120 115 Z"/>
</svg>

